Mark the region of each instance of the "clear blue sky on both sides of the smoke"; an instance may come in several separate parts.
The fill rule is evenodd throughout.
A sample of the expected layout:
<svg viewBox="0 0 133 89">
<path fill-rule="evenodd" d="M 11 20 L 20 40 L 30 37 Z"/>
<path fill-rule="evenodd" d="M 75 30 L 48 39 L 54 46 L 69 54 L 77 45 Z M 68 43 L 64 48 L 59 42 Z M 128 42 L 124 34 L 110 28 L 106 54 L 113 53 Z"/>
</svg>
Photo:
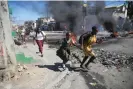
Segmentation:
<svg viewBox="0 0 133 89">
<path fill-rule="evenodd" d="M 106 6 L 117 6 L 123 3 L 124 1 L 105 1 Z M 47 3 L 45 1 L 8 1 L 8 5 L 12 8 L 12 17 L 17 24 L 47 16 Z"/>
</svg>

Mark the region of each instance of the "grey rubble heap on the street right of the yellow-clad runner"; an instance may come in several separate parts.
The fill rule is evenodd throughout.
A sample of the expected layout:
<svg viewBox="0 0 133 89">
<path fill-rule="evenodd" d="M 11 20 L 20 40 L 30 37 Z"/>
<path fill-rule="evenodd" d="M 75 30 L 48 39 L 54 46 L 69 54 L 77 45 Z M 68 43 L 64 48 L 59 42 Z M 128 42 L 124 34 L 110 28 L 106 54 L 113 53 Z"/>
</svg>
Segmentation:
<svg viewBox="0 0 133 89">
<path fill-rule="evenodd" d="M 133 57 L 124 53 L 108 52 L 103 49 L 95 49 L 94 51 L 97 54 L 96 61 L 107 67 L 133 64 Z"/>
</svg>

